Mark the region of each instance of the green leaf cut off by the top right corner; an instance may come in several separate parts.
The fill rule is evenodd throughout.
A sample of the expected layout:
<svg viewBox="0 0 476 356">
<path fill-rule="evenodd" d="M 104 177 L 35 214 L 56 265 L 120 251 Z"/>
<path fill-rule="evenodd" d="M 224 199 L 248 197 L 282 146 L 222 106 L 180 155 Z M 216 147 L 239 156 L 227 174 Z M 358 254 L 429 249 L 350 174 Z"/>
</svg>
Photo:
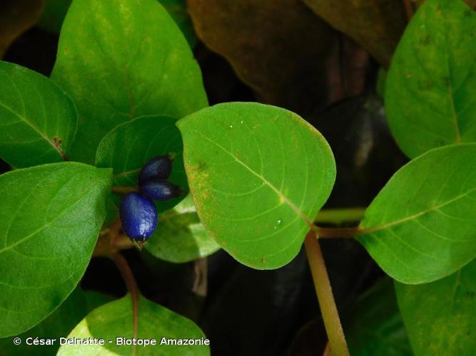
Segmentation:
<svg viewBox="0 0 476 356">
<path fill-rule="evenodd" d="M 427 0 L 395 51 L 385 87 L 390 129 L 408 157 L 476 141 L 476 13 Z"/>
</svg>

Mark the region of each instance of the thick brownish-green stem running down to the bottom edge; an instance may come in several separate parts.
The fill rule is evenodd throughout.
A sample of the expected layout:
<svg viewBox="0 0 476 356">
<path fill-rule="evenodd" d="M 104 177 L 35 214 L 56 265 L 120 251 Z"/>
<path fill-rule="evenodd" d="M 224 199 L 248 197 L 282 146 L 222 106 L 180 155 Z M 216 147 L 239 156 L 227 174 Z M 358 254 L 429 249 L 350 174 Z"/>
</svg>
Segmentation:
<svg viewBox="0 0 476 356">
<path fill-rule="evenodd" d="M 305 251 L 308 255 L 310 271 L 313 275 L 315 293 L 318 295 L 320 312 L 323 315 L 325 330 L 328 333 L 330 350 L 333 356 L 348 356 L 339 313 L 335 306 L 334 295 L 330 287 L 328 271 L 325 268 L 323 253 L 315 231 L 309 231 L 305 237 Z"/>
</svg>

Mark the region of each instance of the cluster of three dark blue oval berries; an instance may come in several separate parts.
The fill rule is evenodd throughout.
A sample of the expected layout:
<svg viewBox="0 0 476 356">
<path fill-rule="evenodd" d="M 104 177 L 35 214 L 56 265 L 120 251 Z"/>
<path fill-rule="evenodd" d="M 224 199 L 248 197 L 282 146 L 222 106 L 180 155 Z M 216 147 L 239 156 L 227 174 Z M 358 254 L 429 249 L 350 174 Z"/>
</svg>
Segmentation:
<svg viewBox="0 0 476 356">
<path fill-rule="evenodd" d="M 121 201 L 121 224 L 124 233 L 142 248 L 157 227 L 157 209 L 153 200 L 168 200 L 182 194 L 180 187 L 168 182 L 172 160 L 158 156 L 148 161 L 138 174 L 138 192 L 126 194 Z"/>
</svg>

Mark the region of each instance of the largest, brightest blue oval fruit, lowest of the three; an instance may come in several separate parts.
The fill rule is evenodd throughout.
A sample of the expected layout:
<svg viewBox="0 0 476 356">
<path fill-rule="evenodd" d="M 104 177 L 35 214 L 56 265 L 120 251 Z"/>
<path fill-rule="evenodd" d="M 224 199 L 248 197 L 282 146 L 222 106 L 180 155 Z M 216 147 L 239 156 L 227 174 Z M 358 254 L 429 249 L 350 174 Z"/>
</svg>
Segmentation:
<svg viewBox="0 0 476 356">
<path fill-rule="evenodd" d="M 126 194 L 121 201 L 119 215 L 123 231 L 140 248 L 156 230 L 156 206 L 141 194 Z"/>
</svg>

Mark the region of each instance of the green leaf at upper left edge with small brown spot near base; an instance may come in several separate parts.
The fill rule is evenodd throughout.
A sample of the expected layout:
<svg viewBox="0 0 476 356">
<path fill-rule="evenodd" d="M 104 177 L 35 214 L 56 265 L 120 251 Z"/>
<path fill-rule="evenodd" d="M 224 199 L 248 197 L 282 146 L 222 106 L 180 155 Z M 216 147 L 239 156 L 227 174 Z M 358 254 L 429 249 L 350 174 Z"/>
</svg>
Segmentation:
<svg viewBox="0 0 476 356">
<path fill-rule="evenodd" d="M 0 61 L 0 156 L 14 167 L 60 162 L 76 132 L 71 99 L 49 78 Z"/>
</svg>

